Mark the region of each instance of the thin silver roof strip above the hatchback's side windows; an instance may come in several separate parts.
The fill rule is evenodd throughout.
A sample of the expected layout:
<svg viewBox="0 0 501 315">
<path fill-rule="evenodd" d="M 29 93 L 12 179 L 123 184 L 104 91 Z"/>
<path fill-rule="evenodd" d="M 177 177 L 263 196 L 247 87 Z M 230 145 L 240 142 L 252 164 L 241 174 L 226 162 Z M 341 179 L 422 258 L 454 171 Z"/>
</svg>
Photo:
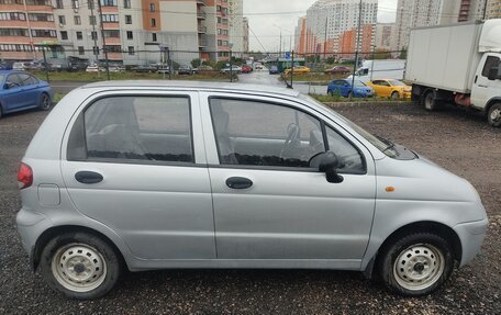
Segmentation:
<svg viewBox="0 0 501 315">
<path fill-rule="evenodd" d="M 282 87 L 265 85 L 225 83 L 208 81 L 163 81 L 163 80 L 115 80 L 89 83 L 81 89 L 113 89 L 113 88 L 163 88 L 172 90 L 210 90 L 222 92 L 257 92 L 298 97 L 300 93 Z"/>
</svg>

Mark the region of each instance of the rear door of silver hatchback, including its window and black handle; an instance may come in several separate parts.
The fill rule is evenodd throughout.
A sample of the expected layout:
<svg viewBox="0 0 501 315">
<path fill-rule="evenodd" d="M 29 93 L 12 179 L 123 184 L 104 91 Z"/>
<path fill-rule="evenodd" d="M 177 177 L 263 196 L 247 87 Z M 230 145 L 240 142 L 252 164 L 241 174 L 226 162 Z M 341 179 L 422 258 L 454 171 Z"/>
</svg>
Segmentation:
<svg viewBox="0 0 501 315">
<path fill-rule="evenodd" d="M 138 258 L 215 258 L 200 134 L 197 93 L 98 99 L 79 114 L 64 153 L 73 203 Z"/>
</svg>

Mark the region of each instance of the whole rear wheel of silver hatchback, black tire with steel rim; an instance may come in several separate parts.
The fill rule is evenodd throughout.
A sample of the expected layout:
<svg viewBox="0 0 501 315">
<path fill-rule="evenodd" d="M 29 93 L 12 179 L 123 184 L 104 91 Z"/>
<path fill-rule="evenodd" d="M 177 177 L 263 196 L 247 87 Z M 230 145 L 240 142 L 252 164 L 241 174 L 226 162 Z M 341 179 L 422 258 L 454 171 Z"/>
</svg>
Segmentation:
<svg viewBox="0 0 501 315">
<path fill-rule="evenodd" d="M 51 239 L 42 251 L 40 268 L 53 290 L 69 299 L 90 300 L 110 292 L 120 278 L 122 263 L 108 243 L 76 232 Z"/>
</svg>

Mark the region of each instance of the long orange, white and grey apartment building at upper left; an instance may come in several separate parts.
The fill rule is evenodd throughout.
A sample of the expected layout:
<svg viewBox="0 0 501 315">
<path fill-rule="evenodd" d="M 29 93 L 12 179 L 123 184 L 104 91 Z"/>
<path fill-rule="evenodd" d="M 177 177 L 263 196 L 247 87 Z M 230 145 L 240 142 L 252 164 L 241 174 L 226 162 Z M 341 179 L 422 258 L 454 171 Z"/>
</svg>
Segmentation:
<svg viewBox="0 0 501 315">
<path fill-rule="evenodd" d="M 179 64 L 227 58 L 227 1 L 0 0 L 0 58 L 40 59 L 41 46 L 48 58 L 89 61 L 104 47 L 124 65 L 159 61 L 167 47 Z"/>
</svg>

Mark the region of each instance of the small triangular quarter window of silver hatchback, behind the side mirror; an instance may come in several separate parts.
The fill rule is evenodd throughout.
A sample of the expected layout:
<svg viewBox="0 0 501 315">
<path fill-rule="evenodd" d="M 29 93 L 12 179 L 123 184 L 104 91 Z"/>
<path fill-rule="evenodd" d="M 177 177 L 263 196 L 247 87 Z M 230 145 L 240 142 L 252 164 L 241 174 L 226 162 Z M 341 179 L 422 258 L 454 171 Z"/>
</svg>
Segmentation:
<svg viewBox="0 0 501 315">
<path fill-rule="evenodd" d="M 337 171 L 342 173 L 365 173 L 364 159 L 358 149 L 331 127 L 325 126 L 325 130 L 329 150 L 339 159 Z"/>
</svg>

